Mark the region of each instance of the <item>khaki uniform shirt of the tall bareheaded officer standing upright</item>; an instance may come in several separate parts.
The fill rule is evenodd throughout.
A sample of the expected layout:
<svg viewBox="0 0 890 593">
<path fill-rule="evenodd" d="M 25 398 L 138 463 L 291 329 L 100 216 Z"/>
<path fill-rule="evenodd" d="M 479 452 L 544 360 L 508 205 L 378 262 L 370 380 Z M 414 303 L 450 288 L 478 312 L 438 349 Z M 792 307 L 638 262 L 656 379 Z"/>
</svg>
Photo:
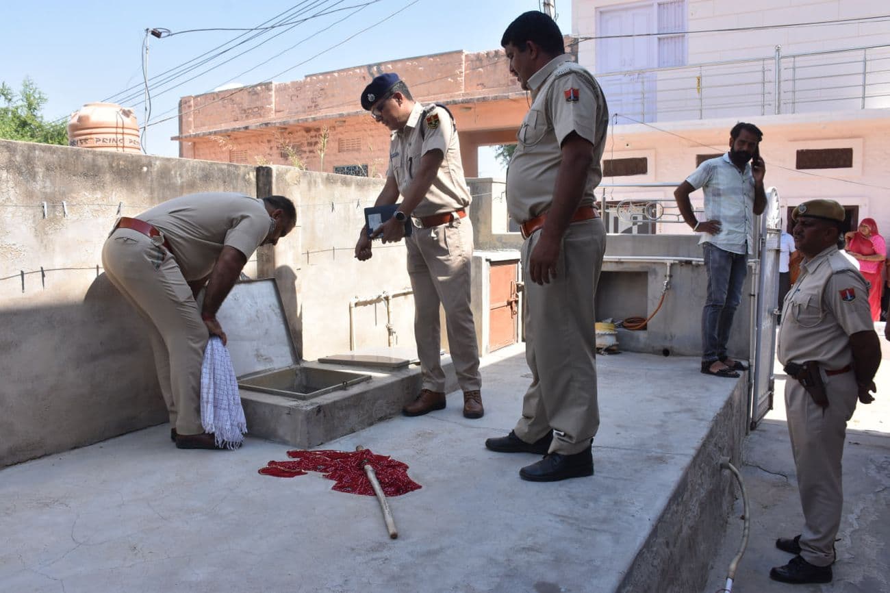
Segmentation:
<svg viewBox="0 0 890 593">
<path fill-rule="evenodd" d="M 603 180 L 600 160 L 609 127 L 609 108 L 600 85 L 587 69 L 561 55 L 529 79 L 532 103 L 522 120 L 519 140 L 506 174 L 510 217 L 524 223 L 550 207 L 562 163 L 562 141 L 574 132 L 594 145 L 594 160 L 579 206 L 595 202 Z"/>
</svg>

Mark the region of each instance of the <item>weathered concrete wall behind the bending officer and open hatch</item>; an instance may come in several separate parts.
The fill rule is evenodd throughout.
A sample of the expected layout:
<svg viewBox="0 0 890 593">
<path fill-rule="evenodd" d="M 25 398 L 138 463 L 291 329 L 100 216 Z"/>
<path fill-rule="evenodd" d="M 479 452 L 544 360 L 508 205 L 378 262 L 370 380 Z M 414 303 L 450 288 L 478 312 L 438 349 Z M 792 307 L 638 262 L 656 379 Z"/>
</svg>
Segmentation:
<svg viewBox="0 0 890 593">
<path fill-rule="evenodd" d="M 375 244 L 365 264 L 352 257 L 363 208 L 382 186 L 293 167 L 0 141 L 0 467 L 166 421 L 143 321 L 101 271 L 119 204 L 119 215 L 134 216 L 194 191 L 293 199 L 295 233 L 259 249 L 245 272 L 276 277 L 295 344 L 313 359 L 349 351 L 350 299 L 409 287 L 403 245 Z M 392 300 L 398 345 L 414 346 L 413 313 L 412 296 Z M 357 347 L 387 345 L 382 302 L 354 316 Z"/>
</svg>

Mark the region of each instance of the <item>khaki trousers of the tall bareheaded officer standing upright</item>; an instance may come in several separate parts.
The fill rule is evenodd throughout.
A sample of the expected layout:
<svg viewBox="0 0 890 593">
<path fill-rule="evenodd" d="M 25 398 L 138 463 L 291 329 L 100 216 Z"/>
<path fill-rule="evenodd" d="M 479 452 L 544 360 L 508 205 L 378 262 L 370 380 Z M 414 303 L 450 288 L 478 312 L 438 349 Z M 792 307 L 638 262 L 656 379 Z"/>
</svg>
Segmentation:
<svg viewBox="0 0 890 593">
<path fill-rule="evenodd" d="M 599 219 L 570 224 L 562 237 L 556 278 L 543 286 L 529 276 L 529 256 L 540 234 L 533 233 L 522 244 L 525 358 L 531 385 L 514 432 L 534 443 L 553 430 L 550 452 L 571 455 L 589 448 L 600 426 L 594 300 L 606 233 Z"/>
</svg>

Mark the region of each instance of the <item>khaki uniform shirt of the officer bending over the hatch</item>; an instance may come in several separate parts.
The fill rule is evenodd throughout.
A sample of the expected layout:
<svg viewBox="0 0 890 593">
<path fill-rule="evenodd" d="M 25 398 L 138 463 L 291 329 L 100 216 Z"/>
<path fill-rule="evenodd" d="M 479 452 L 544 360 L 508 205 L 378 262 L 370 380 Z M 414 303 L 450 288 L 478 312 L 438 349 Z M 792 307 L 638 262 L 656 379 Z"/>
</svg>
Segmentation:
<svg viewBox="0 0 890 593">
<path fill-rule="evenodd" d="M 262 199 L 231 192 L 191 193 L 136 218 L 164 233 L 188 281 L 206 277 L 226 245 L 249 258 L 275 227 Z"/>
</svg>

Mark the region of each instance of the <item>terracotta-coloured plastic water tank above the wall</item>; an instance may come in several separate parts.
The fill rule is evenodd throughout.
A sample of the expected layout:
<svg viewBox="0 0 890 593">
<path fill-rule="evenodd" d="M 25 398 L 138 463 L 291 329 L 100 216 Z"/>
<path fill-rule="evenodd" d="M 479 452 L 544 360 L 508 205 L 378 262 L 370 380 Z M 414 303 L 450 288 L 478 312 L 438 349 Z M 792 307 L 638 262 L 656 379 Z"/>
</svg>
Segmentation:
<svg viewBox="0 0 890 593">
<path fill-rule="evenodd" d="M 68 143 L 77 148 L 142 152 L 133 110 L 117 103 L 86 103 L 72 113 Z"/>
</svg>

